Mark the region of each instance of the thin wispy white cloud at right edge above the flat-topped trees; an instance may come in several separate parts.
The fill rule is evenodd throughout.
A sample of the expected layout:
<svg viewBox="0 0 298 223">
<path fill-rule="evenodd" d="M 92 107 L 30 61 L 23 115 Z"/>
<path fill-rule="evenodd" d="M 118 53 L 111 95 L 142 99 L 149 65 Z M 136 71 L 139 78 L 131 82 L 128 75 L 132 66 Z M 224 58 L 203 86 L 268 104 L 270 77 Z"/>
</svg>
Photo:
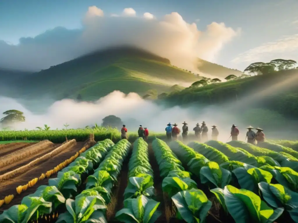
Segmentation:
<svg viewBox="0 0 298 223">
<path fill-rule="evenodd" d="M 259 60 L 265 61 L 265 59 L 267 61 L 276 58 L 283 58 L 283 55 L 298 56 L 297 53 L 295 54 L 297 50 L 298 34 L 283 36 L 281 39 L 275 42 L 265 43 L 245 51 L 242 54 L 239 54 L 235 59 L 232 60 L 232 62 L 256 62 Z"/>
</svg>

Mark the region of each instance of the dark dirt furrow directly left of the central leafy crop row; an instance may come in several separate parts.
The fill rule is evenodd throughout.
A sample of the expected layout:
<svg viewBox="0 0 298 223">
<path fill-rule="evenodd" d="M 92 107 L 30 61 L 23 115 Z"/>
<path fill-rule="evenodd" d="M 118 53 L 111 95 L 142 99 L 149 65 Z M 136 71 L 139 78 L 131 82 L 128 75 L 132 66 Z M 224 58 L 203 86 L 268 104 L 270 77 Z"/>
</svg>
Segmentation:
<svg viewBox="0 0 298 223">
<path fill-rule="evenodd" d="M 128 162 L 131 157 L 131 151 L 132 150 L 130 150 L 128 156 L 123 161 L 122 169 L 118 177 L 118 182 L 114 186 L 111 202 L 108 204 L 108 208 L 107 208 L 108 222 L 119 222 L 117 221 L 117 219 L 115 219 L 115 214 L 117 213 L 117 211 L 123 208 L 123 200 L 124 200 L 123 194 L 124 194 L 125 188 L 127 187 Z"/>
</svg>

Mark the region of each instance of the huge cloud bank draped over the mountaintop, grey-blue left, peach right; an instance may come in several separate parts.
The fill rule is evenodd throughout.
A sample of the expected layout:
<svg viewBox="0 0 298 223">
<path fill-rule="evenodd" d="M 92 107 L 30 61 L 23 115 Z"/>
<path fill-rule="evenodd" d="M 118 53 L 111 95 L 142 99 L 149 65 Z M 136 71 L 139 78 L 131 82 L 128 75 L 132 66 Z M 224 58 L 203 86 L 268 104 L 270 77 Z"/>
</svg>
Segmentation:
<svg viewBox="0 0 298 223">
<path fill-rule="evenodd" d="M 196 58 L 212 61 L 225 43 L 240 30 L 212 22 L 206 30 L 187 23 L 177 12 L 161 20 L 143 19 L 131 8 L 123 16 L 105 17 L 89 7 L 83 29 L 57 27 L 34 38 L 21 38 L 18 45 L 0 40 L 0 67 L 40 70 L 75 59 L 94 50 L 132 45 L 170 59 L 173 65 L 195 71 Z"/>
</svg>

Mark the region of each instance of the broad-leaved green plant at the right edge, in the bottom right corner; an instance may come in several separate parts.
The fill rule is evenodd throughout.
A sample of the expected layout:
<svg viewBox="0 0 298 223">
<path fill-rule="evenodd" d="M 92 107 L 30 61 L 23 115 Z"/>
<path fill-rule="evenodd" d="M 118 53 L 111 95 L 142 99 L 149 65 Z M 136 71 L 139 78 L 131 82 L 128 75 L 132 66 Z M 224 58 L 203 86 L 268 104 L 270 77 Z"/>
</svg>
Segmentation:
<svg viewBox="0 0 298 223">
<path fill-rule="evenodd" d="M 260 182 L 264 200 L 273 208 L 285 208 L 294 222 L 298 222 L 298 193 L 289 190 L 281 184 Z"/>
</svg>

